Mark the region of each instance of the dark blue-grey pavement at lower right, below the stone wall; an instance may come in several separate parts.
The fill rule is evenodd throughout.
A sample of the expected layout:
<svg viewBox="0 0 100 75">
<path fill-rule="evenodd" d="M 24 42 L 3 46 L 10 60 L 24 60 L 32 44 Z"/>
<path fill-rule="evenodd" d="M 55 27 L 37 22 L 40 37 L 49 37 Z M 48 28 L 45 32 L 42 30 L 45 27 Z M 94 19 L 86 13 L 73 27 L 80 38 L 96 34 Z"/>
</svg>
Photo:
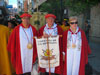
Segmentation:
<svg viewBox="0 0 100 75">
<path fill-rule="evenodd" d="M 91 42 L 90 48 L 92 50 L 92 54 L 89 55 L 89 65 L 90 65 L 90 75 L 100 75 L 100 43 Z"/>
</svg>

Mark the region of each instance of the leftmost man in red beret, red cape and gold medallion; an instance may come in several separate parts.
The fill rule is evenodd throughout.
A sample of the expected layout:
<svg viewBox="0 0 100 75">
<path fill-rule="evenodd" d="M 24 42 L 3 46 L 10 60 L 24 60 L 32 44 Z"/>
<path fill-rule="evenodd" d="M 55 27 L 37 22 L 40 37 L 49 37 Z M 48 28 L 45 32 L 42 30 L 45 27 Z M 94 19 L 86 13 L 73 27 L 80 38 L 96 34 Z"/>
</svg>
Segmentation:
<svg viewBox="0 0 100 75">
<path fill-rule="evenodd" d="M 9 38 L 8 50 L 11 52 L 11 62 L 16 69 L 16 74 L 31 75 L 32 65 L 37 57 L 33 39 L 37 31 L 30 25 L 30 14 L 24 13 L 20 17 L 22 23 L 13 30 Z"/>
</svg>

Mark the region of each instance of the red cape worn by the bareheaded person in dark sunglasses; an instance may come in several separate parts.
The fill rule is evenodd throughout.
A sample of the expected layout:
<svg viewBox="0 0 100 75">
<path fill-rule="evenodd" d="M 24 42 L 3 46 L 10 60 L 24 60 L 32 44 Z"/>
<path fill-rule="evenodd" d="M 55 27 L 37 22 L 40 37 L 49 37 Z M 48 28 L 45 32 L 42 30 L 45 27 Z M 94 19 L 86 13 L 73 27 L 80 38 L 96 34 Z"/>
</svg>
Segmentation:
<svg viewBox="0 0 100 75">
<path fill-rule="evenodd" d="M 69 31 L 69 30 L 68 30 Z M 67 35 L 68 31 L 63 33 L 63 50 L 65 52 L 65 62 L 64 62 L 64 74 L 67 75 Z M 81 37 L 82 37 L 82 47 L 81 47 L 81 59 L 80 59 L 80 68 L 79 68 L 79 75 L 85 75 L 85 64 L 88 63 L 88 54 L 91 53 L 90 47 L 88 45 L 88 41 L 86 39 L 84 31 L 80 29 Z"/>
</svg>

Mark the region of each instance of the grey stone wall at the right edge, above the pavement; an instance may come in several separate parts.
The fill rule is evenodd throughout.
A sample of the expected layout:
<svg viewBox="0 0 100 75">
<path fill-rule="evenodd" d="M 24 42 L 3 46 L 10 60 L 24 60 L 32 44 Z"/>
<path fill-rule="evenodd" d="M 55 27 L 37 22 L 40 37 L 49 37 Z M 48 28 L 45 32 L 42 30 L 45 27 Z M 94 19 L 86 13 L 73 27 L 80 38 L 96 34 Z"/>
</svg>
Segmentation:
<svg viewBox="0 0 100 75">
<path fill-rule="evenodd" d="M 100 42 L 100 4 L 91 8 L 91 40 Z"/>
</svg>

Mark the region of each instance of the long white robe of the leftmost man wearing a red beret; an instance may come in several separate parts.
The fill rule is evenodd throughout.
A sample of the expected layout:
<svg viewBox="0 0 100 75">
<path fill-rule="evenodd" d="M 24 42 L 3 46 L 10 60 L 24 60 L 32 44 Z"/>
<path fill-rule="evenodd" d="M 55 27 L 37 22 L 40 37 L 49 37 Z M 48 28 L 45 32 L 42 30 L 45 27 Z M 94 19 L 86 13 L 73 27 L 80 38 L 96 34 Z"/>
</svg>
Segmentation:
<svg viewBox="0 0 100 75">
<path fill-rule="evenodd" d="M 25 34 L 25 32 L 26 34 Z M 27 29 L 20 26 L 20 48 L 21 48 L 21 61 L 22 61 L 22 70 L 23 73 L 31 72 L 32 71 L 32 60 L 33 60 L 33 48 L 28 49 L 27 44 L 28 44 L 28 39 L 32 42 L 33 44 L 33 32 L 31 26 Z M 28 39 L 27 39 L 28 36 Z"/>
</svg>

